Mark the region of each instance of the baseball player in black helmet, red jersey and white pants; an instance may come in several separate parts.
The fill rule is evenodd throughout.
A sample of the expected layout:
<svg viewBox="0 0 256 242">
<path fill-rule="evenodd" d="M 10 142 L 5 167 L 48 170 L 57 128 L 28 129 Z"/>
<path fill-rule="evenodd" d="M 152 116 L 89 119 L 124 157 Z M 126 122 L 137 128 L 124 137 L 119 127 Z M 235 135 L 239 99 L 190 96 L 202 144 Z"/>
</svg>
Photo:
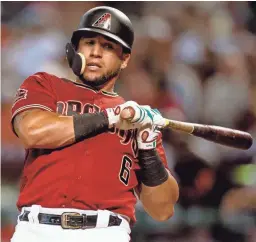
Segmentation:
<svg viewBox="0 0 256 242">
<path fill-rule="evenodd" d="M 26 157 L 12 242 L 128 242 L 138 198 L 156 220 L 173 215 L 164 119 L 113 91 L 133 39 L 125 14 L 93 8 L 66 46 L 76 80 L 40 72 L 18 89 L 12 127 Z"/>
</svg>

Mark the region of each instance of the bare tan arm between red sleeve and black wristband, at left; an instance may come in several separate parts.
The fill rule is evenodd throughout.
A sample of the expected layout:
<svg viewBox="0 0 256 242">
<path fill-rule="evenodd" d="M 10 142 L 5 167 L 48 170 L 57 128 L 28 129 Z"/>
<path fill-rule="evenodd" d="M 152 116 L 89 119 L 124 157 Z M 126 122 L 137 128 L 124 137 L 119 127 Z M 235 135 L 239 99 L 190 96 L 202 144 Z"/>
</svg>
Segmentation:
<svg viewBox="0 0 256 242">
<path fill-rule="evenodd" d="M 55 149 L 73 144 L 72 116 L 30 109 L 14 117 L 14 129 L 25 148 Z"/>
</svg>

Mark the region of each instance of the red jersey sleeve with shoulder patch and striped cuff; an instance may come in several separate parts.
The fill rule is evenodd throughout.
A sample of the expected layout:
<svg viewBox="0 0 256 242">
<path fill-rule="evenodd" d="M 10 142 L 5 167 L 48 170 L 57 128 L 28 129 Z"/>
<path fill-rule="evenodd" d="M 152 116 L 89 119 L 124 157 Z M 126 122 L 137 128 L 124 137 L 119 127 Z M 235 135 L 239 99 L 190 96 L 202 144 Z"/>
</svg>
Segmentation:
<svg viewBox="0 0 256 242">
<path fill-rule="evenodd" d="M 16 92 L 11 122 L 18 113 L 33 108 L 55 112 L 56 102 L 49 74 L 36 73 L 29 76 Z"/>
</svg>

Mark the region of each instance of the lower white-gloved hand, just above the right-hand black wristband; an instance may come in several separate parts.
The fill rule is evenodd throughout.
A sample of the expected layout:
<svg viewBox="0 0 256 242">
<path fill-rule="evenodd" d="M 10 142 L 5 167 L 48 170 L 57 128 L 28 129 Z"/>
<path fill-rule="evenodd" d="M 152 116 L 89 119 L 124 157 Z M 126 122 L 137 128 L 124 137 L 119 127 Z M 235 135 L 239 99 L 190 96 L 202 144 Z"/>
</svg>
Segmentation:
<svg viewBox="0 0 256 242">
<path fill-rule="evenodd" d="M 152 150 L 156 148 L 157 138 L 161 135 L 159 126 L 153 125 L 151 128 L 141 128 L 137 133 L 139 150 Z"/>
</svg>

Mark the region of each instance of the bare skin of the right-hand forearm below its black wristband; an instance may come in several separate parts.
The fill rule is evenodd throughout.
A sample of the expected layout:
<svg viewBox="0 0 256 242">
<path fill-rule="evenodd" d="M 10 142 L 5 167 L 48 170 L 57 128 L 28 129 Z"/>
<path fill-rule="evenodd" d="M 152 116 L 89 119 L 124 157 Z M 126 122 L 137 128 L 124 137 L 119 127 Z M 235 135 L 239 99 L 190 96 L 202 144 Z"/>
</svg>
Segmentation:
<svg viewBox="0 0 256 242">
<path fill-rule="evenodd" d="M 173 176 L 161 185 L 149 187 L 142 184 L 140 200 L 144 209 L 154 219 L 165 221 L 173 216 L 174 205 L 179 197 L 179 188 Z"/>
</svg>

